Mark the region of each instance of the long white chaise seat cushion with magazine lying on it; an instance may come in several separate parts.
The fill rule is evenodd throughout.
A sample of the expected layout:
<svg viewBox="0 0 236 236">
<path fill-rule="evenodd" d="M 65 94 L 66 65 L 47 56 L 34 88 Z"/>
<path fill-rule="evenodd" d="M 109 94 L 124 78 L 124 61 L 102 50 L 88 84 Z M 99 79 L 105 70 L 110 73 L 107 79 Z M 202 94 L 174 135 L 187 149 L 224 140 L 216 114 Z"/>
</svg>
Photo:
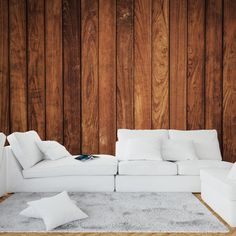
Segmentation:
<svg viewBox="0 0 236 236">
<path fill-rule="evenodd" d="M 55 161 L 43 160 L 28 170 L 23 170 L 24 178 L 46 178 L 79 175 L 115 175 L 117 159 L 111 155 L 98 155 L 100 158 L 82 162 L 75 157 L 65 157 Z"/>
</svg>

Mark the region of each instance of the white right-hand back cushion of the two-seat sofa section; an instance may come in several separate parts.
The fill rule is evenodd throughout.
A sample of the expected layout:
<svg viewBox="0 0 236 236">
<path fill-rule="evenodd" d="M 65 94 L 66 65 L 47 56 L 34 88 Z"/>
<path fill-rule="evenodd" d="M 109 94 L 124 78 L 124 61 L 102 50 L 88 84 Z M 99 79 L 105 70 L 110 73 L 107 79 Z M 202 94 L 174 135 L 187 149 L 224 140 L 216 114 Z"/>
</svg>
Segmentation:
<svg viewBox="0 0 236 236">
<path fill-rule="evenodd" d="M 169 130 L 170 139 L 192 140 L 201 160 L 222 160 L 216 130 Z"/>
</svg>

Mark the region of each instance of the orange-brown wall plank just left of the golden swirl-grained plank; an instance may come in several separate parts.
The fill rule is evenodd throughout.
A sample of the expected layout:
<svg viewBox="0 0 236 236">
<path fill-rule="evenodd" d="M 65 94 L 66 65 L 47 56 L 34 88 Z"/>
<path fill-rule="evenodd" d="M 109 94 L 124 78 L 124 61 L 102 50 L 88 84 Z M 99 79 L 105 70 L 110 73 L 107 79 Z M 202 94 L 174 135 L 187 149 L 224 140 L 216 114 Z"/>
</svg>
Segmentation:
<svg viewBox="0 0 236 236">
<path fill-rule="evenodd" d="M 134 127 L 151 128 L 151 0 L 134 5 Z"/>
</svg>

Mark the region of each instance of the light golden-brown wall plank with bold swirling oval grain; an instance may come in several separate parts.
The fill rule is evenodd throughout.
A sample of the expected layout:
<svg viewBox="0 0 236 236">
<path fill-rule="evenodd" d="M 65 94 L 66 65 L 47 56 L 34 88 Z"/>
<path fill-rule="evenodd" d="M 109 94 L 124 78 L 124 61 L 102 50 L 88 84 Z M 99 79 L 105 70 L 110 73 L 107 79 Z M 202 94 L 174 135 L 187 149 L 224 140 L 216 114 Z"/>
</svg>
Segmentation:
<svg viewBox="0 0 236 236">
<path fill-rule="evenodd" d="M 152 128 L 169 128 L 169 1 L 152 1 Z"/>
</svg>

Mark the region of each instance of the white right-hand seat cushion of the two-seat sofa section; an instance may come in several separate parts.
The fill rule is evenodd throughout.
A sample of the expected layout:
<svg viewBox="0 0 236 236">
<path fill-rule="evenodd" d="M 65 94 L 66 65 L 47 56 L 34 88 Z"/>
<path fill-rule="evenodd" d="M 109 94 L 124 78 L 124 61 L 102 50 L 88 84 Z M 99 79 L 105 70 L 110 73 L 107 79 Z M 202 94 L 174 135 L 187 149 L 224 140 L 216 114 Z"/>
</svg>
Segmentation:
<svg viewBox="0 0 236 236">
<path fill-rule="evenodd" d="M 204 168 L 231 168 L 232 163 L 217 160 L 186 160 L 176 162 L 178 175 L 200 175 Z"/>
</svg>

